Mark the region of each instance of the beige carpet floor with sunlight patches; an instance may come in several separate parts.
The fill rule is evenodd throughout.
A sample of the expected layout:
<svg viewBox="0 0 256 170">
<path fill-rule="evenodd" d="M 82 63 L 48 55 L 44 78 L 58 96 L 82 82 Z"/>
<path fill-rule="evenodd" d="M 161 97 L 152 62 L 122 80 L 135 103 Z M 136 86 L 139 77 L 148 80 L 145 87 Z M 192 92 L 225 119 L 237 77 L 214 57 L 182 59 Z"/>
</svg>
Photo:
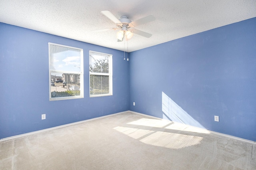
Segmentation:
<svg viewBox="0 0 256 170">
<path fill-rule="evenodd" d="M 1 170 L 256 169 L 256 143 L 126 112 L 0 141 Z"/>
</svg>

